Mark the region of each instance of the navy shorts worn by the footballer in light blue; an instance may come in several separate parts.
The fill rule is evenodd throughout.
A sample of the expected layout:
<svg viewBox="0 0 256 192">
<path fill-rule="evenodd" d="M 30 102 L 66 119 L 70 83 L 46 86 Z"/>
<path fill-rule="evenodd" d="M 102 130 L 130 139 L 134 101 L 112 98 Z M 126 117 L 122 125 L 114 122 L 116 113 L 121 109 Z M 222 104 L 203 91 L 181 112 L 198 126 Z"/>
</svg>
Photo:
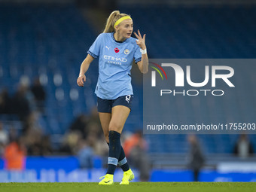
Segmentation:
<svg viewBox="0 0 256 192">
<path fill-rule="evenodd" d="M 117 99 L 101 99 L 97 98 L 97 108 L 98 112 L 101 113 L 111 113 L 112 108 L 116 105 L 123 105 L 127 108 L 132 108 L 133 95 L 120 96 Z"/>
</svg>

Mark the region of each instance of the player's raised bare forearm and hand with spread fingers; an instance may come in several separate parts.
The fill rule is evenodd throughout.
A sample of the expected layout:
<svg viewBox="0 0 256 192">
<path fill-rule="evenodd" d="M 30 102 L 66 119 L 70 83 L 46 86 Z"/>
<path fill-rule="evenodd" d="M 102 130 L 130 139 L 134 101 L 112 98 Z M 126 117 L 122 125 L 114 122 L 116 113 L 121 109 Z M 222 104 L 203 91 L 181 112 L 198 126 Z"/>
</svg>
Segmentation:
<svg viewBox="0 0 256 192">
<path fill-rule="evenodd" d="M 145 50 L 147 48 L 146 44 L 145 44 L 145 37 L 146 37 L 146 35 L 144 34 L 143 38 L 142 38 L 142 35 L 139 32 L 139 30 L 138 30 L 138 35 L 136 34 L 136 32 L 134 32 L 134 34 L 136 35 L 136 38 L 138 38 L 136 43 L 139 45 L 139 47 L 142 50 Z M 142 54 L 142 60 L 137 62 L 137 65 L 139 67 L 139 71 L 142 72 L 143 74 L 148 72 L 148 54 L 147 53 Z"/>
</svg>

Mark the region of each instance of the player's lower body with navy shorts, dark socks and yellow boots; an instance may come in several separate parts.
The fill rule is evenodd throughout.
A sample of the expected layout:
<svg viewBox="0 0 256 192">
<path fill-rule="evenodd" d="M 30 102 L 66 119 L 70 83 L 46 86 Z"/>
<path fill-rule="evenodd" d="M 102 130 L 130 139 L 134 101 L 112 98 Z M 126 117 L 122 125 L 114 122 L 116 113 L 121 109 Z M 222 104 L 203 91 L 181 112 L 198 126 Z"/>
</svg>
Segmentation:
<svg viewBox="0 0 256 192">
<path fill-rule="evenodd" d="M 133 176 L 132 179 L 134 178 L 133 172 L 130 170 L 130 166 L 126 161 L 123 148 L 120 145 L 120 133 L 122 132 L 124 123 L 126 122 L 126 119 L 130 114 L 130 105 L 133 99 L 132 97 L 133 96 L 122 96 L 112 101 L 111 103 L 111 105 L 113 106 L 113 108 L 111 109 L 112 114 L 99 112 L 99 118 L 102 123 L 102 130 L 105 134 L 106 142 L 111 140 L 113 141 L 113 142 L 110 141 L 111 146 L 114 146 L 109 148 L 108 172 L 105 175 L 105 178 L 99 182 L 99 184 L 109 184 L 109 182 L 110 183 L 112 182 L 114 169 L 116 168 L 117 163 L 123 169 L 123 172 L 124 172 L 123 175 L 126 175 L 127 177 L 127 173 L 129 173 L 128 174 L 129 178 L 131 178 L 130 177 L 131 175 Z M 104 104 L 105 101 L 102 101 L 102 99 L 98 99 L 98 111 L 105 111 L 105 112 L 108 111 L 109 108 L 101 110 L 101 108 L 106 108 L 105 104 L 102 107 L 102 103 Z M 126 105 L 127 107 L 123 105 Z M 114 128 L 112 129 L 111 127 L 114 127 Z M 109 135 L 109 139 L 108 139 L 108 134 L 109 134 L 108 131 L 110 131 L 111 133 Z M 128 179 L 126 180 L 128 181 Z M 129 181 L 128 183 L 123 182 L 123 184 L 129 184 Z"/>
</svg>

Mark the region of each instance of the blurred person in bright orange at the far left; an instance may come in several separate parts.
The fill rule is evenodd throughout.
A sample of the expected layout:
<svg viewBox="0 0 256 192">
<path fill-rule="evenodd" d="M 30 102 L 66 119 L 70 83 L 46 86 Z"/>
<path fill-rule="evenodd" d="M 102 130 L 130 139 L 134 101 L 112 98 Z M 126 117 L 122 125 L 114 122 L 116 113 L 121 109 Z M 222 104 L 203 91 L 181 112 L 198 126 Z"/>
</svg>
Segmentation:
<svg viewBox="0 0 256 192">
<path fill-rule="evenodd" d="M 5 148 L 5 169 L 23 170 L 25 168 L 26 148 L 21 138 L 15 139 Z"/>
</svg>

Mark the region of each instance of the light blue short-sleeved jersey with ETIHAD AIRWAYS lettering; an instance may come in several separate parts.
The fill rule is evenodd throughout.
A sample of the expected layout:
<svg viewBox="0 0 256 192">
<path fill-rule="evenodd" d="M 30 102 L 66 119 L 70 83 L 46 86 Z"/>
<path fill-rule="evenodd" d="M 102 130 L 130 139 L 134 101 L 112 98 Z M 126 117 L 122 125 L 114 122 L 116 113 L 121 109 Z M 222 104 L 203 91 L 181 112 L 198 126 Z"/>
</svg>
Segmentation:
<svg viewBox="0 0 256 192">
<path fill-rule="evenodd" d="M 141 61 L 142 53 L 136 38 L 123 42 L 114 40 L 114 33 L 102 33 L 88 52 L 94 58 L 99 56 L 99 78 L 95 93 L 101 99 L 117 99 L 133 95 L 130 70 L 133 59 Z"/>
</svg>

